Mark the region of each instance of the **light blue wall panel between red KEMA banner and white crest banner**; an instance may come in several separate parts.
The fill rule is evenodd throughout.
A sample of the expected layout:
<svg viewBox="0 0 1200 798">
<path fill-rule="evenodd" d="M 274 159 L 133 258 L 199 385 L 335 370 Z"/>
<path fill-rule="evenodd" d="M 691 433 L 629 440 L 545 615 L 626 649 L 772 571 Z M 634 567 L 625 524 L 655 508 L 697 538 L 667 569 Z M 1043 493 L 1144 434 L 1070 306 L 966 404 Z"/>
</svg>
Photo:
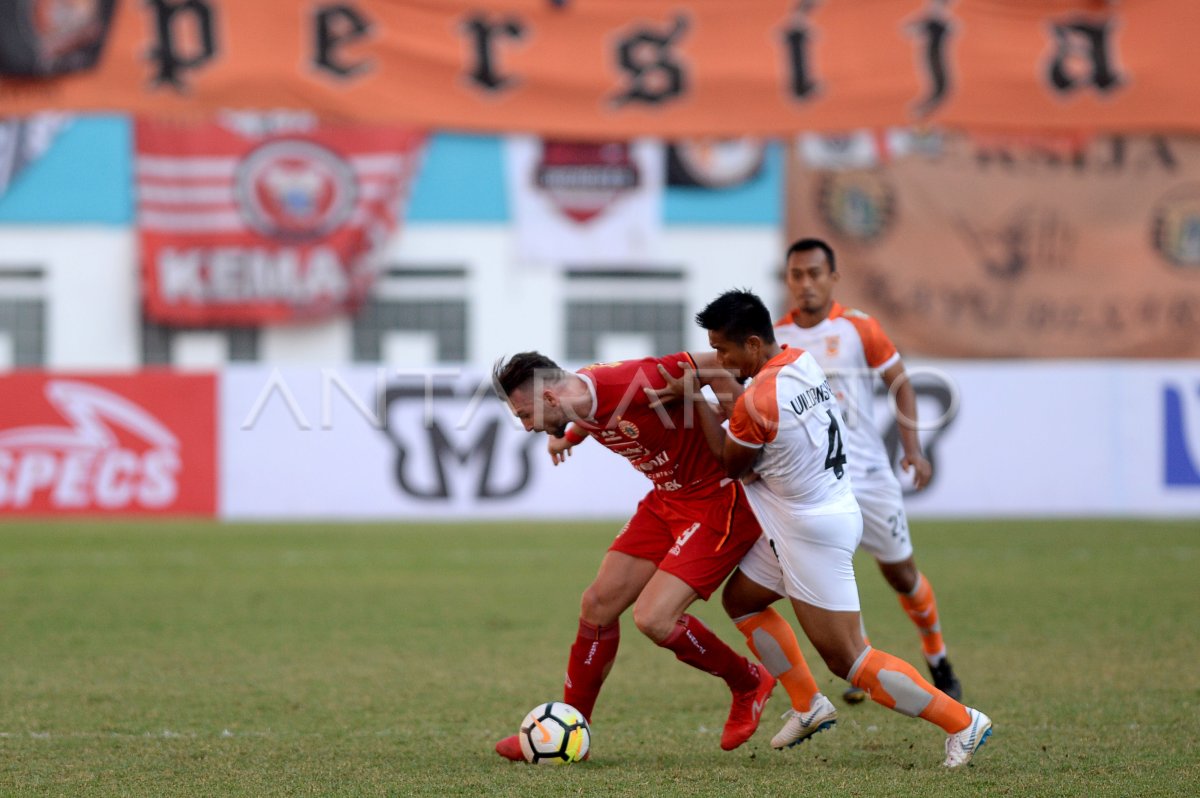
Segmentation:
<svg viewBox="0 0 1200 798">
<path fill-rule="evenodd" d="M 438 133 L 413 186 L 413 222 L 505 222 L 504 142 L 494 136 Z"/>
</svg>

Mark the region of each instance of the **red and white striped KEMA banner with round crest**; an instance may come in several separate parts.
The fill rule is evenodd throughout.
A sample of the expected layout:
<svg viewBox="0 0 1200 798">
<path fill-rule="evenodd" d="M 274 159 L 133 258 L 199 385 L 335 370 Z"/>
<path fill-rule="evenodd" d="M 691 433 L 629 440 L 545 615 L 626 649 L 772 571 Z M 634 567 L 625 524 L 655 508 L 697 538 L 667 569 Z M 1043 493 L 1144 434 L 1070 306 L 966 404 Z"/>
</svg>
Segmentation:
<svg viewBox="0 0 1200 798">
<path fill-rule="evenodd" d="M 137 121 L 145 313 L 266 324 L 354 308 L 397 228 L 424 133 L 224 113 Z"/>
</svg>

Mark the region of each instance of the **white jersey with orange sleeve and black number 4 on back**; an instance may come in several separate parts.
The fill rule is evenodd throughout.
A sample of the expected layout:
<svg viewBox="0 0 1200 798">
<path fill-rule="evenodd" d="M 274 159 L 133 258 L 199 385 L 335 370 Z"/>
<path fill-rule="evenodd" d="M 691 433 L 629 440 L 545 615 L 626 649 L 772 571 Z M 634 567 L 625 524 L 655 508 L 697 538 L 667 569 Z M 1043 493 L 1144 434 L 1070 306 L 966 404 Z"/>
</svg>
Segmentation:
<svg viewBox="0 0 1200 798">
<path fill-rule="evenodd" d="M 857 509 L 846 473 L 842 420 L 821 366 L 803 349 L 767 361 L 738 397 L 728 434 L 762 449 L 754 469 L 793 511 Z"/>
</svg>

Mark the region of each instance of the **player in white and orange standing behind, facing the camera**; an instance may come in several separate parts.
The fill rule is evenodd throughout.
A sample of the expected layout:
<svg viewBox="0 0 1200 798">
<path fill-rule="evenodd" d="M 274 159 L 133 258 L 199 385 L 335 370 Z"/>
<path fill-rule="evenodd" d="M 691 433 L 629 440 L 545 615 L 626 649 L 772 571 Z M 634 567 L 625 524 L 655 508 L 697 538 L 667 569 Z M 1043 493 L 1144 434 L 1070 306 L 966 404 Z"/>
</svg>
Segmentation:
<svg viewBox="0 0 1200 798">
<path fill-rule="evenodd" d="M 913 486 L 925 487 L 932 467 L 917 436 L 917 395 L 905 373 L 895 344 L 880 323 L 834 301 L 840 272 L 833 250 L 820 239 L 800 239 L 787 250 L 785 281 L 792 311 L 775 324 L 780 343 L 808 350 L 829 377 L 845 420 L 847 468 L 854 479 L 854 498 L 863 510 L 863 542 L 878 563 L 883 578 L 896 592 L 900 606 L 920 634 L 922 650 L 934 685 L 962 700 L 962 685 L 946 658 L 937 600 L 929 580 L 913 560 L 908 522 L 900 481 L 892 472 L 887 448 L 872 413 L 875 376 L 894 394 L 901 467 L 912 473 Z M 866 634 L 864 631 L 864 638 Z M 857 703 L 865 696 L 854 688 L 845 698 Z"/>
</svg>

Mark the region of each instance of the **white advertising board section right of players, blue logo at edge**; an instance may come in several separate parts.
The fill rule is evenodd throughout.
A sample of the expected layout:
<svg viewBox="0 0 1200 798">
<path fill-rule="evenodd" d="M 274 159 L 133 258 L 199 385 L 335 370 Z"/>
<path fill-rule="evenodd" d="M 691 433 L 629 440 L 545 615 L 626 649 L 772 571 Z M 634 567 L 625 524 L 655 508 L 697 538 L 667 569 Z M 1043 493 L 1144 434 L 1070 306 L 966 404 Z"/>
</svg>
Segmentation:
<svg viewBox="0 0 1200 798">
<path fill-rule="evenodd" d="M 1200 517 L 1200 366 L 940 361 L 908 370 L 923 426 L 953 410 L 922 433 L 935 476 L 910 494 L 910 515 Z"/>
</svg>

